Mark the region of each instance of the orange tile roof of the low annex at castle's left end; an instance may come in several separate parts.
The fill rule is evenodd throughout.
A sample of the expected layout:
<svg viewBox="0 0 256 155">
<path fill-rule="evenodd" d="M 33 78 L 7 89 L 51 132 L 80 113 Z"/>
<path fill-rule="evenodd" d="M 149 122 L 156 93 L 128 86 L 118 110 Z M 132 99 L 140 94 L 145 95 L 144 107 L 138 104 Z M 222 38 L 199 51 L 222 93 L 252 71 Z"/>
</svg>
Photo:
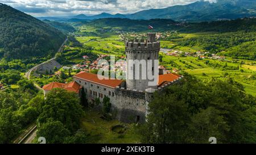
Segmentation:
<svg viewBox="0 0 256 155">
<path fill-rule="evenodd" d="M 43 86 L 43 90 L 48 90 L 48 91 L 55 89 L 55 88 L 61 88 L 61 89 L 65 89 L 68 91 L 73 91 L 75 93 L 79 93 L 81 86 L 79 85 L 79 83 L 77 83 L 75 81 L 66 83 L 66 84 L 60 83 L 60 82 L 52 82 L 52 83 L 49 83 L 48 85 Z"/>
</svg>

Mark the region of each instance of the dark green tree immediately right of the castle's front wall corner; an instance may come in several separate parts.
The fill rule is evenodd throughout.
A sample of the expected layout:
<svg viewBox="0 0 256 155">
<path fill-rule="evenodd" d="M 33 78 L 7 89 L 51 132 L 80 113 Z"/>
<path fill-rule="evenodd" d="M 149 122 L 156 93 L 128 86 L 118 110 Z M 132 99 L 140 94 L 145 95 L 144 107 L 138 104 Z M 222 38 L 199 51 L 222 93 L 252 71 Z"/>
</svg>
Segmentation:
<svg viewBox="0 0 256 155">
<path fill-rule="evenodd" d="M 175 94 L 155 95 L 150 103 L 148 123 L 139 132 L 142 143 L 185 143 L 187 109 L 188 105 Z"/>
</svg>

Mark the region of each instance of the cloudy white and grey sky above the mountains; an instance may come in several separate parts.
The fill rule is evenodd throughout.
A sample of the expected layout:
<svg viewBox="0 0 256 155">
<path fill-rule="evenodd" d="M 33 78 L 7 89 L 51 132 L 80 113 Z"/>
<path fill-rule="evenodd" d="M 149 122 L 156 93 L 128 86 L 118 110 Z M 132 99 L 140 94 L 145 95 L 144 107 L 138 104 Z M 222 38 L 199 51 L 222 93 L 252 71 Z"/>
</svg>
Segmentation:
<svg viewBox="0 0 256 155">
<path fill-rule="evenodd" d="M 0 0 L 0 3 L 33 16 L 71 16 L 101 12 L 129 14 L 146 9 L 187 5 L 195 1 L 197 0 Z"/>
</svg>

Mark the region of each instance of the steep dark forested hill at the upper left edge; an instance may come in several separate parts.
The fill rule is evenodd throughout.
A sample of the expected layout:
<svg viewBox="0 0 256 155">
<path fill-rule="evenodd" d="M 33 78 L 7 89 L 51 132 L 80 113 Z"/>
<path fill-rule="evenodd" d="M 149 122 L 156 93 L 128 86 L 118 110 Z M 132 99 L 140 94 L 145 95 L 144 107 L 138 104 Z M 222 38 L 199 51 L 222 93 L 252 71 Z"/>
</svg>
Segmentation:
<svg viewBox="0 0 256 155">
<path fill-rule="evenodd" d="M 65 37 L 47 23 L 0 3 L 0 57 L 54 55 Z"/>
</svg>

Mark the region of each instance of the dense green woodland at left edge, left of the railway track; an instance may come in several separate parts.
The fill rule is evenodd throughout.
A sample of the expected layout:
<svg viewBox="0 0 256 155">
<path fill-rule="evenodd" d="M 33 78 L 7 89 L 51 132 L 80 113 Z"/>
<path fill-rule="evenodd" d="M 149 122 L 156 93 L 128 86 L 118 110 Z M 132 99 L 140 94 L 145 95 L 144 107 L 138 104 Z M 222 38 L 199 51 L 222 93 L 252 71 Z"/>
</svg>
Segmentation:
<svg viewBox="0 0 256 155">
<path fill-rule="evenodd" d="M 17 73 L 13 71 L 9 74 L 15 76 Z M 13 78 L 9 77 L 12 81 L 8 82 L 18 81 L 19 89 L 7 89 L 0 93 L 0 143 L 12 143 L 27 125 L 36 121 L 39 101 L 43 100 L 43 95 L 37 95 L 38 90 L 31 81 L 20 76 Z"/>
</svg>

